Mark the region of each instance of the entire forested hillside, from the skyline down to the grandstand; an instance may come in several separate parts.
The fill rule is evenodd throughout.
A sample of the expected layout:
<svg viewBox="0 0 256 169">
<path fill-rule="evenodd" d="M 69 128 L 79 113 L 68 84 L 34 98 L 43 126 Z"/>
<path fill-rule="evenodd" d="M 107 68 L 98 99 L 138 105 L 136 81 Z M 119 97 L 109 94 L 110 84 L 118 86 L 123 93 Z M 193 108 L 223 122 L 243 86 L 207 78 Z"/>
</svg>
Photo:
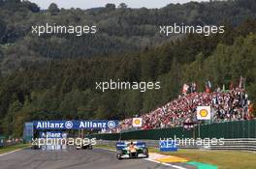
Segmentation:
<svg viewBox="0 0 256 169">
<path fill-rule="evenodd" d="M 37 13 L 32 4 L 0 1 L 0 133 L 21 136 L 22 124 L 33 120 L 124 119 L 176 99 L 184 83 L 196 82 L 203 91 L 207 80 L 213 86 L 229 86 L 231 81 L 238 85 L 240 75 L 255 102 L 255 1 L 249 3 L 191 2 L 159 10 L 52 6 Z M 252 19 L 244 20 L 248 17 Z M 101 32 L 96 37 L 39 38 L 28 33 L 38 20 L 97 24 Z M 155 26 L 223 20 L 225 34 L 209 37 L 165 39 Z M 95 89 L 95 82 L 110 79 L 160 81 L 161 89 L 145 93 Z"/>
</svg>

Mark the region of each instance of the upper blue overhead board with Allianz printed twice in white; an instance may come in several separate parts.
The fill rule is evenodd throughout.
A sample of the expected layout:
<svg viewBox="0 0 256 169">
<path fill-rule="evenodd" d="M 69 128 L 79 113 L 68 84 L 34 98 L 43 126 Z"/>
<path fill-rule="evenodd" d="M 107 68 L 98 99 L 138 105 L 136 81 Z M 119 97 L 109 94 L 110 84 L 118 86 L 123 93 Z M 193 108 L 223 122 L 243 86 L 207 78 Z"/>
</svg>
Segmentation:
<svg viewBox="0 0 256 169">
<path fill-rule="evenodd" d="M 35 121 L 36 129 L 112 129 L 118 127 L 118 121 Z"/>
</svg>

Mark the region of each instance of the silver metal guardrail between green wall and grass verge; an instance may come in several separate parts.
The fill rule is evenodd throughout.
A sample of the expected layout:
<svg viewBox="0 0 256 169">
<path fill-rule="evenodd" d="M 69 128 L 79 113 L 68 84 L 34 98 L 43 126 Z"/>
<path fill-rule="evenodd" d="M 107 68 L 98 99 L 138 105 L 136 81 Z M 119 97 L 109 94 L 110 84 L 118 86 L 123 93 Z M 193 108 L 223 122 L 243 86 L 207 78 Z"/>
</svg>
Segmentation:
<svg viewBox="0 0 256 169">
<path fill-rule="evenodd" d="M 144 141 L 148 147 L 158 148 L 159 140 L 138 140 Z M 223 139 L 224 144 L 210 145 L 182 145 L 177 146 L 179 149 L 203 149 L 203 150 L 240 150 L 240 151 L 256 151 L 256 138 L 239 138 L 239 139 Z M 99 145 L 115 146 L 117 141 L 98 140 Z M 206 146 L 209 145 L 209 146 Z"/>
</svg>

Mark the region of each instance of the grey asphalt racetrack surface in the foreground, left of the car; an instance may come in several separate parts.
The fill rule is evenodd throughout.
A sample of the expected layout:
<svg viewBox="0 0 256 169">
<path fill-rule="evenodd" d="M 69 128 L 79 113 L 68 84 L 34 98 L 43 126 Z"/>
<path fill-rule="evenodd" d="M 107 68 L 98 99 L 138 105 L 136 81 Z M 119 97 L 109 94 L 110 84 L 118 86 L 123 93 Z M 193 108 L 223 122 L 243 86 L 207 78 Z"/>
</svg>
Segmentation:
<svg viewBox="0 0 256 169">
<path fill-rule="evenodd" d="M 102 150 L 22 150 L 0 156 L 1 169 L 174 169 L 145 159 L 117 160 L 115 153 Z"/>
</svg>

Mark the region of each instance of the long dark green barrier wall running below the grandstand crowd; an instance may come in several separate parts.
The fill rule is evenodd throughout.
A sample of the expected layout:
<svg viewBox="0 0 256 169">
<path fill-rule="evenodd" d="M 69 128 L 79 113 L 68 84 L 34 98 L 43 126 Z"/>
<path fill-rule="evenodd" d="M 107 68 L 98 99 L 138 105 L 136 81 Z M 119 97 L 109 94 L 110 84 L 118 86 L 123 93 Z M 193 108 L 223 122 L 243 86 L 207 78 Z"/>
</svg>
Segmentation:
<svg viewBox="0 0 256 169">
<path fill-rule="evenodd" d="M 160 138 L 174 138 L 175 136 L 179 138 L 256 138 L 256 120 L 202 125 L 190 130 L 183 127 L 172 127 L 134 130 L 123 133 L 90 134 L 88 136 L 103 140 L 159 140 Z"/>
</svg>

